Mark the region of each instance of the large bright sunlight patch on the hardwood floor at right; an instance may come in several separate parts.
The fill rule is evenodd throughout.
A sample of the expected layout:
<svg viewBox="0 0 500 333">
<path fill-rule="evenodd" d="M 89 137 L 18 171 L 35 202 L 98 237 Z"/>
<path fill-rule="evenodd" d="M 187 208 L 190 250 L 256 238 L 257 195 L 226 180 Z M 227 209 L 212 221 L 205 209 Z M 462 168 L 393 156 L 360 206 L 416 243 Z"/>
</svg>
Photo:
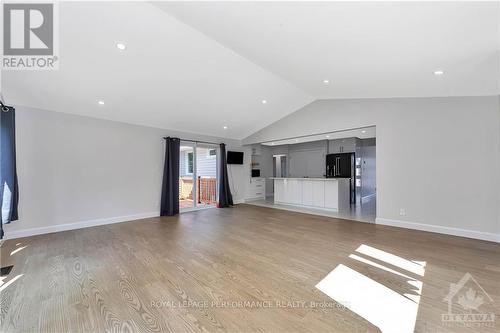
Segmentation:
<svg viewBox="0 0 500 333">
<path fill-rule="evenodd" d="M 405 278 L 412 293 L 398 293 L 342 264 L 321 280 L 316 288 L 368 320 L 384 333 L 413 332 L 423 283 L 405 274 L 404 271 L 423 276 L 426 262 L 410 261 L 364 244 L 358 247 L 356 252 L 357 254 L 349 255 L 349 258 Z M 398 269 L 386 267 L 358 254 L 386 262 Z"/>
</svg>

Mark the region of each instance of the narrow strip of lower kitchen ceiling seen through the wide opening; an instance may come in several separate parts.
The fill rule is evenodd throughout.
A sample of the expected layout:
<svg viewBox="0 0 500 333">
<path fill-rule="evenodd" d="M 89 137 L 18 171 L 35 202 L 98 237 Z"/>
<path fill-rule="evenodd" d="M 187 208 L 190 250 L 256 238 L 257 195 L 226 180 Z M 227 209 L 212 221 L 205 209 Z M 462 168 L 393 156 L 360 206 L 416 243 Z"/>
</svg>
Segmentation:
<svg viewBox="0 0 500 333">
<path fill-rule="evenodd" d="M 375 126 L 356 128 L 347 131 L 337 131 L 331 133 L 321 133 L 317 135 L 302 136 L 297 138 L 288 138 L 284 140 L 263 142 L 266 146 L 280 146 L 280 145 L 291 145 L 311 141 L 321 141 L 321 140 L 335 140 L 335 139 L 346 139 L 346 138 L 359 138 L 359 139 L 369 139 L 375 138 L 377 135 Z"/>
</svg>

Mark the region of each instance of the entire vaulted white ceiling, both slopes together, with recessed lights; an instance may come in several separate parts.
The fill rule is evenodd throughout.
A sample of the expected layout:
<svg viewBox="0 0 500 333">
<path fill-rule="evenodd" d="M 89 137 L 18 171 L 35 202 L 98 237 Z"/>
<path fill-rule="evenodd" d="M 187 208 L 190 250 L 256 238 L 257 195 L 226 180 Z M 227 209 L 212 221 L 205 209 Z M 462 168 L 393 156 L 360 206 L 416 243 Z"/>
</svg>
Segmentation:
<svg viewBox="0 0 500 333">
<path fill-rule="evenodd" d="M 64 2 L 60 69 L 2 93 L 241 139 L 317 98 L 496 95 L 498 24 L 496 2 Z"/>
</svg>

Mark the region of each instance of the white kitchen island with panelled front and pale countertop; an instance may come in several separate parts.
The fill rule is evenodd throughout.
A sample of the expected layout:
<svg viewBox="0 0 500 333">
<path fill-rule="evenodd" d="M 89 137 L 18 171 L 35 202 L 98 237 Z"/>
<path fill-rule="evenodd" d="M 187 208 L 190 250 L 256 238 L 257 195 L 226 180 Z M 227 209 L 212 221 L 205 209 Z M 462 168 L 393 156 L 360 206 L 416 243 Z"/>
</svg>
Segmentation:
<svg viewBox="0 0 500 333">
<path fill-rule="evenodd" d="M 274 203 L 331 211 L 349 210 L 349 178 L 271 178 Z"/>
</svg>

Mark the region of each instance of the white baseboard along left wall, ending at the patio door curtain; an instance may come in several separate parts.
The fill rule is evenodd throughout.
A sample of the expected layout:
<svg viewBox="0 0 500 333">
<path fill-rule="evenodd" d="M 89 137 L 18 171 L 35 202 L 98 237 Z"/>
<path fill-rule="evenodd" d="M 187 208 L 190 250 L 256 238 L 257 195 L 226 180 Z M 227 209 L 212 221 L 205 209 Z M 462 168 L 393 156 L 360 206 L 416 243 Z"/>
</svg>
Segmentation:
<svg viewBox="0 0 500 333">
<path fill-rule="evenodd" d="M 146 219 L 157 216 L 160 216 L 159 212 L 149 212 L 149 213 L 126 215 L 126 216 L 109 217 L 104 219 L 79 221 L 74 223 L 56 224 L 40 228 L 30 228 L 30 229 L 14 230 L 14 231 L 4 230 L 5 231 L 4 239 L 15 239 L 21 237 L 50 234 L 53 232 L 96 227 L 100 225 L 128 222 L 128 221 Z"/>
</svg>

